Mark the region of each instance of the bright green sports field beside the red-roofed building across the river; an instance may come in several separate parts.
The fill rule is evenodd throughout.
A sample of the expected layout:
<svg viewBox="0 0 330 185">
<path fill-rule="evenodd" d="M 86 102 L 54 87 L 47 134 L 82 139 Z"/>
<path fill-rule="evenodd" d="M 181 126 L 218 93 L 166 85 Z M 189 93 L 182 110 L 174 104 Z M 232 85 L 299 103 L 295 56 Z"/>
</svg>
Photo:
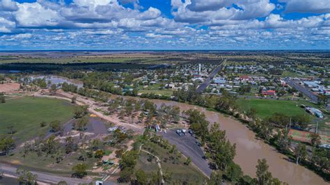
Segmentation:
<svg viewBox="0 0 330 185">
<path fill-rule="evenodd" d="M 256 108 L 257 116 L 259 118 L 266 118 L 273 113 L 284 113 L 288 116 L 305 114 L 303 108 L 300 108 L 298 103 L 289 100 L 276 99 L 238 99 L 237 104 L 242 111 L 249 110 L 249 108 Z M 307 114 L 307 113 L 306 113 Z"/>
</svg>

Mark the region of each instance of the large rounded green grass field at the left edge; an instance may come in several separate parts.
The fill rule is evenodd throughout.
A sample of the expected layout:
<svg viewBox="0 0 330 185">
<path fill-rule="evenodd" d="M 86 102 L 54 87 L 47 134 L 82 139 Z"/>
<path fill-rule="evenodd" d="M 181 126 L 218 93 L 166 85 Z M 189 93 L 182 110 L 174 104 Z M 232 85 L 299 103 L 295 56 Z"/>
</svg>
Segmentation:
<svg viewBox="0 0 330 185">
<path fill-rule="evenodd" d="M 0 104 L 0 135 L 9 132 L 8 124 L 13 124 L 13 136 L 22 142 L 46 133 L 49 127 L 40 127 L 40 122 L 47 124 L 54 120 L 67 122 L 73 116 L 74 106 L 59 99 L 22 97 L 9 99 Z"/>
</svg>

